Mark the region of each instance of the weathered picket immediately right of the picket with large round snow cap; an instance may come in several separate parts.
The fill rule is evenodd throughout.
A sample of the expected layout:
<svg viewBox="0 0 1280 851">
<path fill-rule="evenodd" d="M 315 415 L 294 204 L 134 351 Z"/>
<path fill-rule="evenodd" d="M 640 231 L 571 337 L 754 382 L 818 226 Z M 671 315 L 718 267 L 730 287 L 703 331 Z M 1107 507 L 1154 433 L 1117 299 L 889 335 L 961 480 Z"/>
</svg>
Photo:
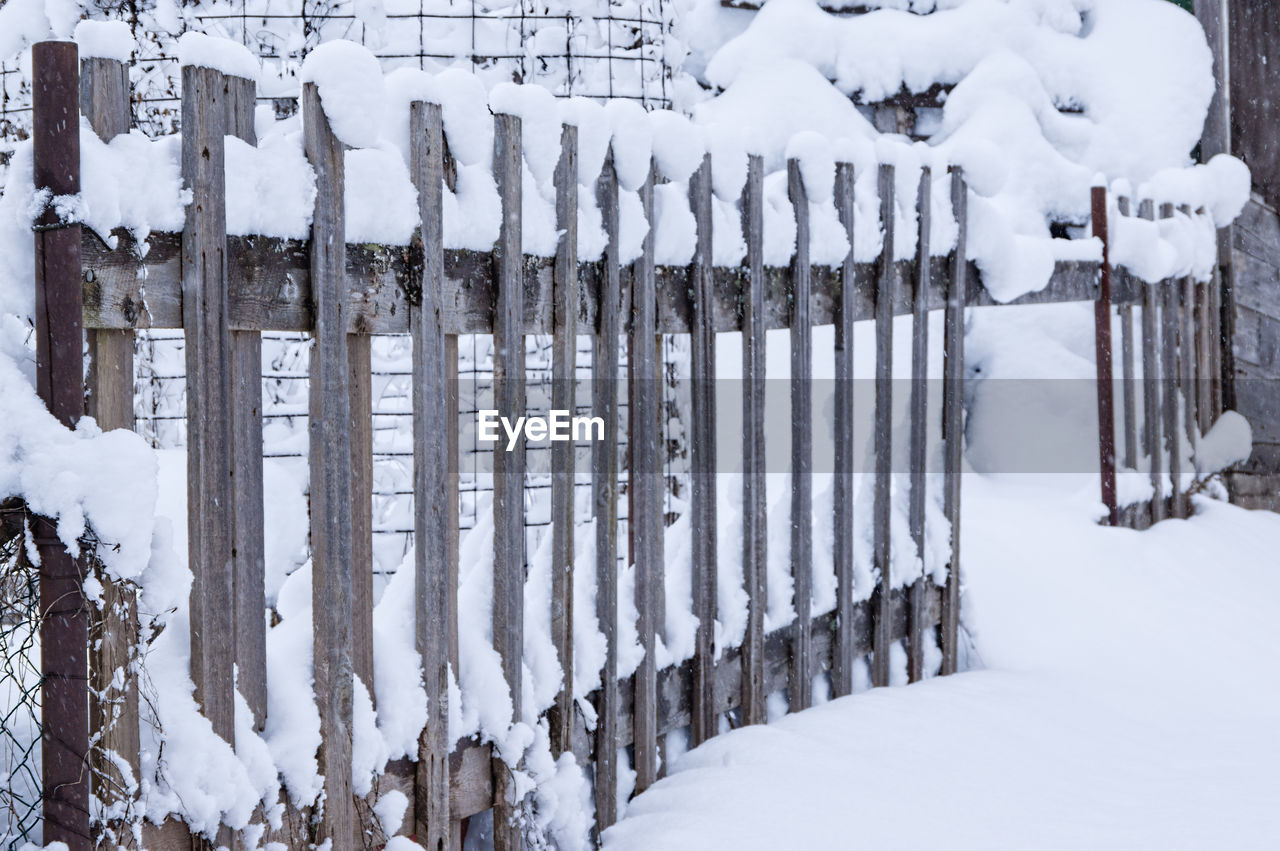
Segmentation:
<svg viewBox="0 0 1280 851">
<path fill-rule="evenodd" d="M 457 539 L 449 500 L 449 369 L 444 340 L 444 122 L 439 104 L 410 105 L 410 173 L 422 224 L 422 294 L 410 305 L 413 337 L 413 621 L 426 686 L 419 737 L 413 832 L 424 847 L 453 848 L 449 818 L 449 558 Z M 454 358 L 454 365 L 457 358 Z M 456 485 L 454 485 L 456 488 Z M 452 534 L 451 534 L 452 532 Z M 440 544 L 444 546 L 440 546 Z"/>
</svg>

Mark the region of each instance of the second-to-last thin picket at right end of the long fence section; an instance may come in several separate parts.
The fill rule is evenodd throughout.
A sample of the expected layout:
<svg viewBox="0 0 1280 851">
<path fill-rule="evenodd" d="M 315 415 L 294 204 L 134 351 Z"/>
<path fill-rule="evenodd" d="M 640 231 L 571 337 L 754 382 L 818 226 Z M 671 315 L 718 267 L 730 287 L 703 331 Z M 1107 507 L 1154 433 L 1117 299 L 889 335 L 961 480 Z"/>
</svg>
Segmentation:
<svg viewBox="0 0 1280 851">
<path fill-rule="evenodd" d="M 911 493 L 908 521 L 915 558 L 920 562 L 920 576 L 910 591 L 910 641 L 906 658 L 906 676 L 910 682 L 924 678 L 924 635 L 928 619 L 928 589 L 933 584 L 924 548 L 924 465 L 928 449 L 929 408 L 929 228 L 932 224 L 933 175 L 928 166 L 920 170 L 920 188 L 916 192 L 919 237 L 915 243 L 915 288 L 911 292 L 911 433 L 910 467 Z"/>
</svg>

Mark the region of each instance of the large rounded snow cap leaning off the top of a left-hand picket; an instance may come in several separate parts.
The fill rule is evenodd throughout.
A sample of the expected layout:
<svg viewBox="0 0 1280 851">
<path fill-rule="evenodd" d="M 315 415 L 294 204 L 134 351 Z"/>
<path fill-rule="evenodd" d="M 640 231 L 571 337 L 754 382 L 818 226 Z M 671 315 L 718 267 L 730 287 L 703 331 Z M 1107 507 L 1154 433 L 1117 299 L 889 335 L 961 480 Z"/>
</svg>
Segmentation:
<svg viewBox="0 0 1280 851">
<path fill-rule="evenodd" d="M 339 141 L 351 147 L 378 145 L 387 91 L 383 69 L 369 49 L 340 38 L 326 41 L 302 61 L 300 78 L 315 83 Z"/>
</svg>

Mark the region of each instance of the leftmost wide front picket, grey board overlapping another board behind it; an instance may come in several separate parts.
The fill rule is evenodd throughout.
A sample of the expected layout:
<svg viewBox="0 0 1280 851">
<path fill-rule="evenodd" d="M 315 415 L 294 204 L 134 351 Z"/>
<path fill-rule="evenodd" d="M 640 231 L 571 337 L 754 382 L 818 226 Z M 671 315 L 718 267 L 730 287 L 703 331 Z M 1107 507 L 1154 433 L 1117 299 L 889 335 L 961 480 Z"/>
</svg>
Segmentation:
<svg viewBox="0 0 1280 851">
<path fill-rule="evenodd" d="M 183 229 L 183 326 L 187 356 L 187 505 L 191 673 L 196 703 L 228 742 L 236 741 L 232 503 L 233 404 L 227 322 L 224 78 L 182 69 L 182 170 L 202 192 Z M 349 774 L 349 772 L 348 772 Z M 218 832 L 221 842 L 229 831 Z"/>
</svg>

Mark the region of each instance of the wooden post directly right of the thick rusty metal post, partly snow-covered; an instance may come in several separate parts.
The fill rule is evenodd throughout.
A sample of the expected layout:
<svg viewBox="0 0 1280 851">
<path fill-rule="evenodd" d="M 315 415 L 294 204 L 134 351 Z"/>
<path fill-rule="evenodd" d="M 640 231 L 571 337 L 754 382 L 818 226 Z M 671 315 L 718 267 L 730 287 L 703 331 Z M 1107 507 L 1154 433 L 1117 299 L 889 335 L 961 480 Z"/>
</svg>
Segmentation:
<svg viewBox="0 0 1280 851">
<path fill-rule="evenodd" d="M 81 63 L 81 113 L 104 142 L 129 132 L 129 69 L 124 63 L 96 58 Z M 133 331 L 90 329 L 86 338 L 88 415 L 104 431 L 132 431 Z M 90 718 L 97 735 L 93 796 L 108 806 L 132 799 L 141 779 L 138 677 L 133 669 L 137 641 L 133 585 L 104 582 L 100 613 L 90 622 Z"/>
</svg>

